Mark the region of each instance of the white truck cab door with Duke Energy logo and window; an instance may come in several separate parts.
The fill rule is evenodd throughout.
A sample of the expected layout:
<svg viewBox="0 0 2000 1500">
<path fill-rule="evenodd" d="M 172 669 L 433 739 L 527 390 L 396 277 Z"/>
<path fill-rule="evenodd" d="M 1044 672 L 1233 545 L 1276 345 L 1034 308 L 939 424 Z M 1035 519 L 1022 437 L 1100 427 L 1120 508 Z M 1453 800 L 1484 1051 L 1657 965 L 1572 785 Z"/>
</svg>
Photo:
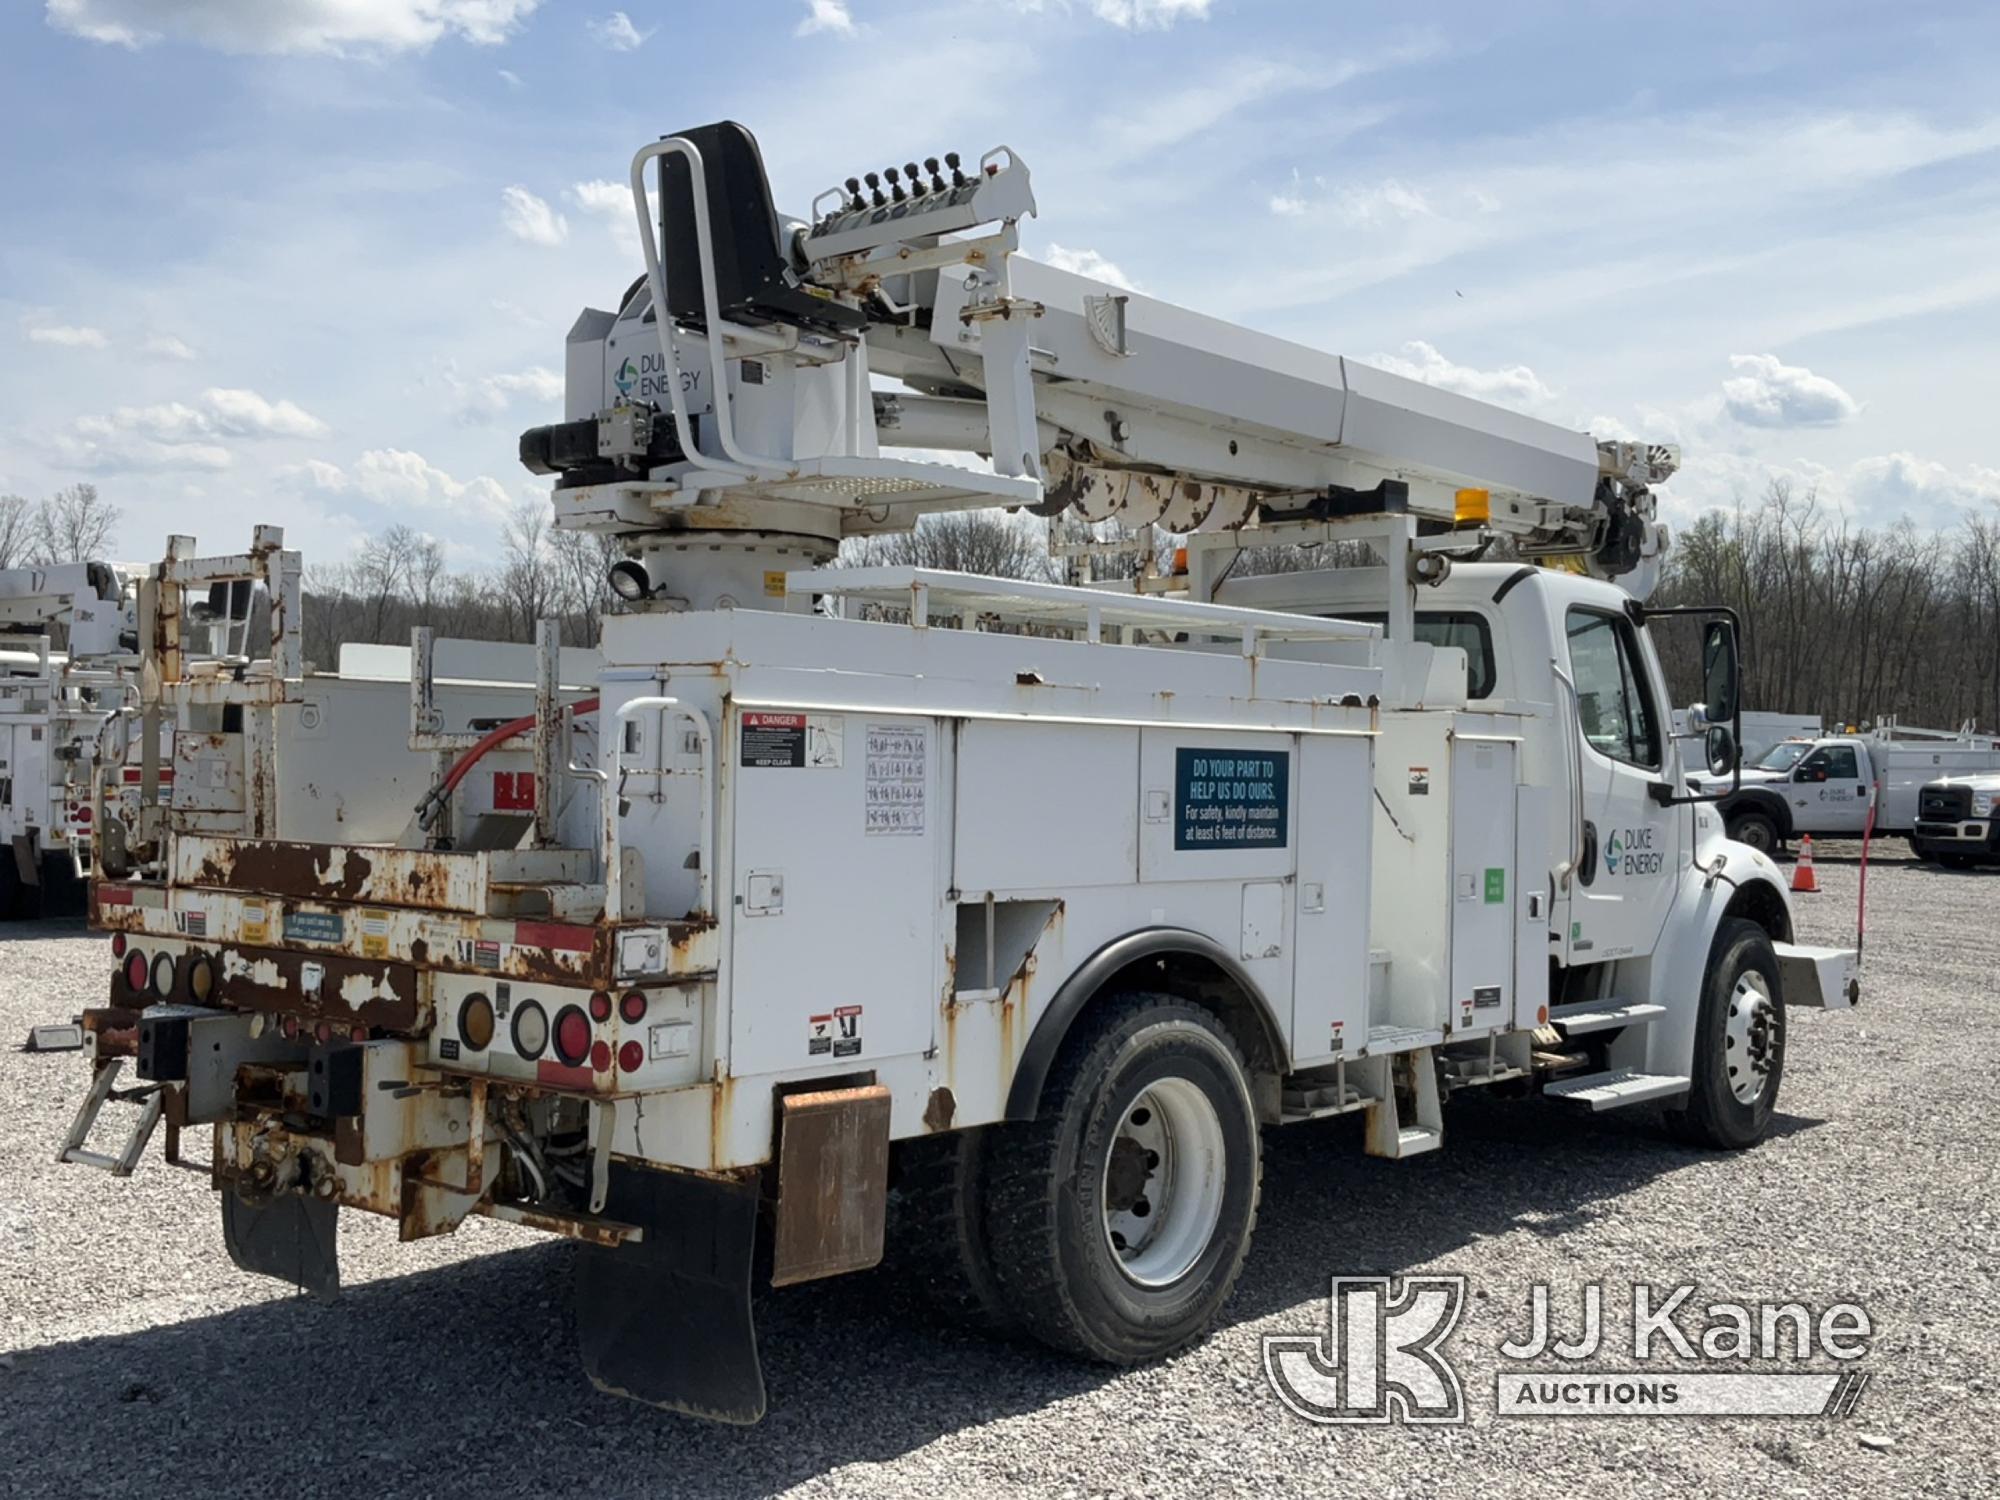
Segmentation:
<svg viewBox="0 0 2000 1500">
<path fill-rule="evenodd" d="M 1638 630 L 1616 610 L 1570 606 L 1564 636 L 1584 816 L 1564 950 L 1590 964 L 1652 952 L 1674 902 L 1684 814 L 1652 798 L 1670 774 L 1668 734 Z"/>
</svg>

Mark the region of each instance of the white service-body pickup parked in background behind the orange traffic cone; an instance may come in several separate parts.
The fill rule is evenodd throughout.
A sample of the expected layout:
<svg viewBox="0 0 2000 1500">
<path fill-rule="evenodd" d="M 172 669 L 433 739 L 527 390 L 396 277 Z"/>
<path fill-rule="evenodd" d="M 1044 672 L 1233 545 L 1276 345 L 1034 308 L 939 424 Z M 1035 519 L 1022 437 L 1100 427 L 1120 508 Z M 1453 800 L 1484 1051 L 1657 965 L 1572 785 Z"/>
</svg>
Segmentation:
<svg viewBox="0 0 2000 1500">
<path fill-rule="evenodd" d="M 1978 772 L 2000 772 L 2000 740 L 1976 734 L 1784 740 L 1760 760 L 1744 764 L 1742 786 L 1720 808 L 1730 838 L 1768 852 L 1804 834 L 1860 838 L 1868 826 L 1870 798 L 1880 792 L 1874 832 L 1914 838 L 1920 792 L 1940 778 Z M 1726 776 L 1696 780 L 1704 792 L 1720 792 L 1730 784 Z"/>
</svg>

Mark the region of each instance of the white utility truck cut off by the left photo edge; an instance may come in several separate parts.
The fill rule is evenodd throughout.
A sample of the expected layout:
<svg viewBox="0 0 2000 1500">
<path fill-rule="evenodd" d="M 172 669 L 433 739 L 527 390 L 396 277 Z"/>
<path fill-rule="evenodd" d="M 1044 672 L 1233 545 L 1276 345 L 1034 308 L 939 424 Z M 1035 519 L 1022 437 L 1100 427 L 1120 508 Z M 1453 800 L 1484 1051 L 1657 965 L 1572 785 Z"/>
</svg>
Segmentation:
<svg viewBox="0 0 2000 1500">
<path fill-rule="evenodd" d="M 98 732 L 138 660 L 134 574 L 0 570 L 0 920 L 82 910 Z"/>
</svg>

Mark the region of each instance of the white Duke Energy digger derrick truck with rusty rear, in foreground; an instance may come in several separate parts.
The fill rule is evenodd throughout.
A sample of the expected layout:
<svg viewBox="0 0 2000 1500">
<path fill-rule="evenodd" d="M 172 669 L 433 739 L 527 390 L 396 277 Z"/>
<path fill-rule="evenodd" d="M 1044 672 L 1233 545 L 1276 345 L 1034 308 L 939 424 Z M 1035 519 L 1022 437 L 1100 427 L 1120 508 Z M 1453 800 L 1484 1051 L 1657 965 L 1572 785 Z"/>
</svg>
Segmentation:
<svg viewBox="0 0 2000 1500">
<path fill-rule="evenodd" d="M 140 1108 L 212 1128 L 240 1266 L 330 1294 L 342 1208 L 572 1236 L 590 1378 L 750 1422 L 752 1284 L 876 1264 L 892 1198 L 940 1302 L 1128 1364 L 1216 1318 L 1260 1126 L 1406 1158 L 1498 1088 L 1762 1138 L 1788 1010 L 1854 1004 L 1856 956 L 1686 790 L 1644 602 L 1670 450 L 1040 266 L 1008 148 L 792 220 L 724 122 L 632 196 L 644 276 L 520 442 L 622 550 L 594 704 L 522 732 L 536 826 L 168 828 L 98 888 L 172 984 L 222 976 L 114 974 L 92 1024 L 100 1080 L 120 1022 Z M 1186 570 L 824 566 L 988 506 L 1158 526 Z M 1268 544 L 1374 562 L 1238 576 Z M 1720 770 L 1736 636 L 1694 624 Z"/>
</svg>

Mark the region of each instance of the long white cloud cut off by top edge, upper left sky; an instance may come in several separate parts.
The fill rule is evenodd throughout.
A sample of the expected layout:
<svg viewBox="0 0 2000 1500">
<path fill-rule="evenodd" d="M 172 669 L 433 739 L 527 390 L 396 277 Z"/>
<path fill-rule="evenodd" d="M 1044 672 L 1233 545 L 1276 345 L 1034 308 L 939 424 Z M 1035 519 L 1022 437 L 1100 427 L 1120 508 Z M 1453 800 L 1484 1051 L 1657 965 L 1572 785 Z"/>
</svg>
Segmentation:
<svg viewBox="0 0 2000 1500">
<path fill-rule="evenodd" d="M 46 0 L 60 32 L 124 48 L 162 40 L 218 52 L 422 52 L 444 36 L 504 42 L 540 0 Z"/>
</svg>

